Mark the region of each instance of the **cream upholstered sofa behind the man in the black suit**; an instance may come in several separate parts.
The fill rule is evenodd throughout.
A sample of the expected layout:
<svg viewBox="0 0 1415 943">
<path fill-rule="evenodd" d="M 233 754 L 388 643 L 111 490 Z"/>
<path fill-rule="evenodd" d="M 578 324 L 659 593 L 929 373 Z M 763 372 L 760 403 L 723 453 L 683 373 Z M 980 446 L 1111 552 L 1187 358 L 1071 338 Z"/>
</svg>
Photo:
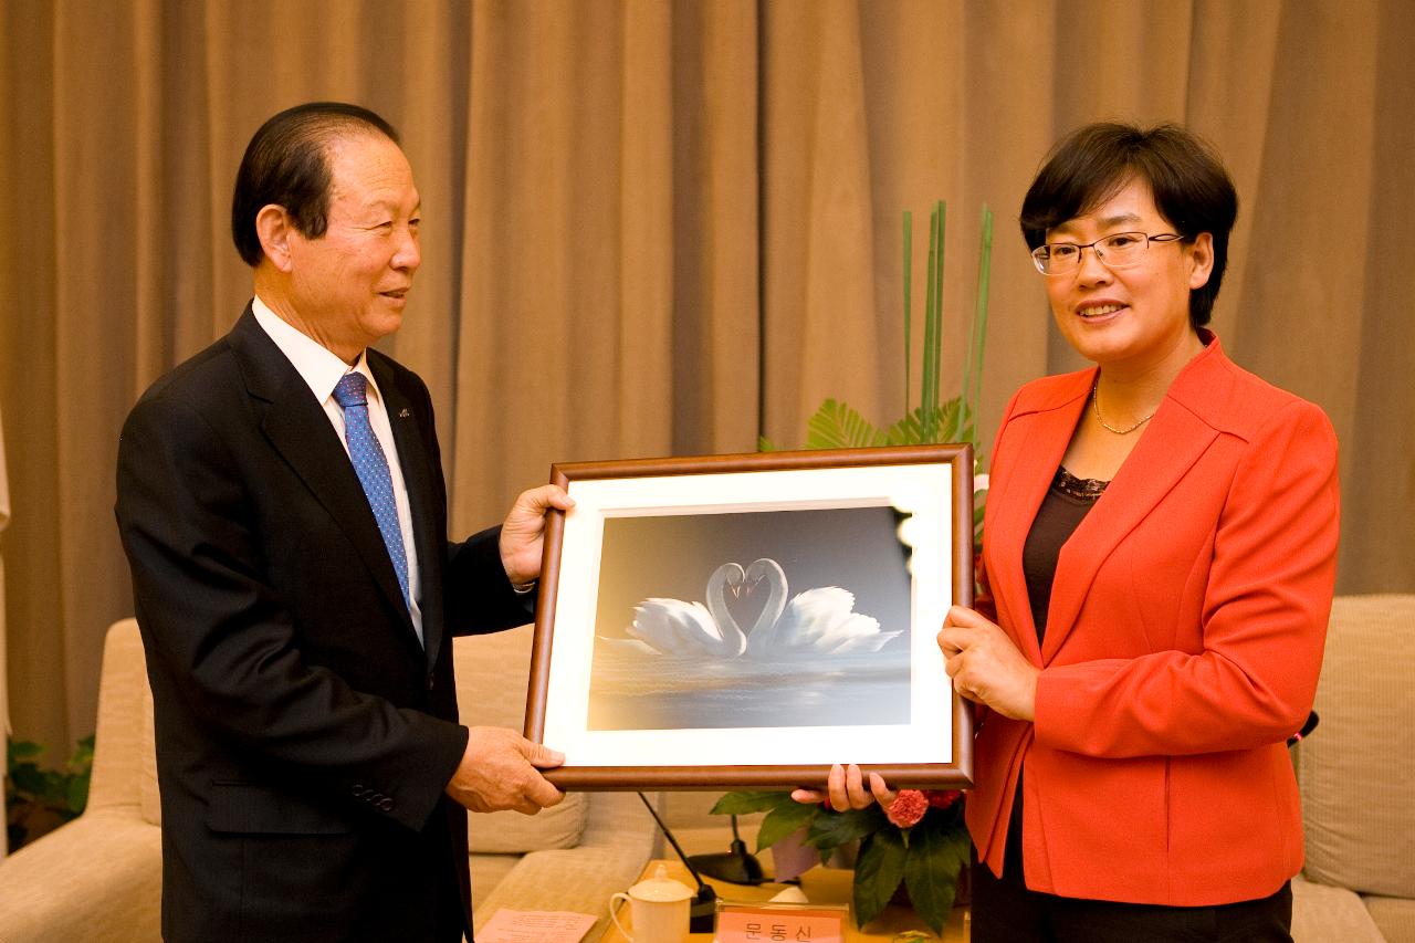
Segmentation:
<svg viewBox="0 0 1415 943">
<path fill-rule="evenodd" d="M 531 627 L 458 639 L 467 724 L 519 729 Z M 0 943 L 147 943 L 161 939 L 161 813 L 151 694 L 132 619 L 109 629 L 89 803 L 75 821 L 0 861 Z M 633 793 L 577 793 L 535 817 L 471 817 L 480 927 L 499 908 L 597 915 L 644 868 L 657 830 Z"/>
</svg>

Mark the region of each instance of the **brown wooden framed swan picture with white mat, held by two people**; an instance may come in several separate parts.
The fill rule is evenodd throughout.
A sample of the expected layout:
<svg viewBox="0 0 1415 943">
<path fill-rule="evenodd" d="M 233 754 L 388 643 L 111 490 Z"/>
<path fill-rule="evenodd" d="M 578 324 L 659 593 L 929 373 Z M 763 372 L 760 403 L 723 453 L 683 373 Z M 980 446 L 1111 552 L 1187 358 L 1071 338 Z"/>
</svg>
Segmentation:
<svg viewBox="0 0 1415 943">
<path fill-rule="evenodd" d="M 972 605 L 968 445 L 556 464 L 526 736 L 562 789 L 972 784 L 935 636 Z"/>
</svg>

